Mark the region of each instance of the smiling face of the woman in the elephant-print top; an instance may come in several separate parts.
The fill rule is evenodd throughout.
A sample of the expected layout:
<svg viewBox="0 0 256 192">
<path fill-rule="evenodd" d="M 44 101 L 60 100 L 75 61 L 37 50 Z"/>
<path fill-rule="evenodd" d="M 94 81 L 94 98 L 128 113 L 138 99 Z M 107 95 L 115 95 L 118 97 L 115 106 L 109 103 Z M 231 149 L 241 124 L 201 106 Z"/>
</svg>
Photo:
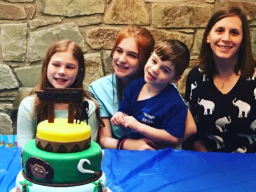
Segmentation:
<svg viewBox="0 0 256 192">
<path fill-rule="evenodd" d="M 216 22 L 207 36 L 206 42 L 211 45 L 214 58 L 237 60 L 242 40 L 242 21 L 234 15 Z"/>
</svg>

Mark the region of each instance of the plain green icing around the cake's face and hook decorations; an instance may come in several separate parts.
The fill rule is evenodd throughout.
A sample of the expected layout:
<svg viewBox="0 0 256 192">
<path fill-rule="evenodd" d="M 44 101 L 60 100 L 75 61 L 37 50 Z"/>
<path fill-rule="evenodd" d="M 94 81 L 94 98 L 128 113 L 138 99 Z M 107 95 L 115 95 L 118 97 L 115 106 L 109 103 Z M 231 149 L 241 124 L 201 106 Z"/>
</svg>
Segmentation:
<svg viewBox="0 0 256 192">
<path fill-rule="evenodd" d="M 33 180 L 39 182 L 49 182 L 52 184 L 70 184 L 77 182 L 84 182 L 89 179 L 93 179 L 95 175 L 91 173 L 81 173 L 77 170 L 77 164 L 80 159 L 88 159 L 90 165 L 83 163 L 83 168 L 86 170 L 92 170 L 94 172 L 100 172 L 101 170 L 101 160 L 102 151 L 98 143 L 91 141 L 91 145 L 88 149 L 82 152 L 58 154 L 40 150 L 35 145 L 35 140 L 31 140 L 23 148 L 23 168 L 24 172 L 26 170 L 26 161 L 30 157 L 36 157 L 49 163 L 54 169 L 53 178 L 51 181 L 46 181 L 44 179 L 38 179 L 33 177 Z"/>
</svg>

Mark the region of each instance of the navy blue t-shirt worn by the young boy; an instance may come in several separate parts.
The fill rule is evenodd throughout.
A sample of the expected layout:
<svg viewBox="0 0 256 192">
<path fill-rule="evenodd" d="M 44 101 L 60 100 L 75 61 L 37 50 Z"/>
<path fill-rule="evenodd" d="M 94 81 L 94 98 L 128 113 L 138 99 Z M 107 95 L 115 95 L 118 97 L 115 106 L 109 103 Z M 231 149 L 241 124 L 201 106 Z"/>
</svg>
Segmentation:
<svg viewBox="0 0 256 192">
<path fill-rule="evenodd" d="M 136 120 L 157 129 L 164 129 L 176 138 L 183 138 L 188 108 L 173 84 L 168 84 L 162 92 L 145 100 L 137 100 L 145 84 L 143 77 L 132 81 L 124 91 L 119 110 Z M 130 132 L 131 138 L 143 138 L 141 134 Z"/>
</svg>

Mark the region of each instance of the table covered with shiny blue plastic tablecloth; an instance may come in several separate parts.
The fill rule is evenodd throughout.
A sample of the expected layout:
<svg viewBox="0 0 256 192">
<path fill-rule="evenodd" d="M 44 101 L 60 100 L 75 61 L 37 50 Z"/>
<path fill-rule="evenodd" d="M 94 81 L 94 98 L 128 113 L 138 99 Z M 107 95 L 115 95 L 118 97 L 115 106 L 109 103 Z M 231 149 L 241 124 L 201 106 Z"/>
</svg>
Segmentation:
<svg viewBox="0 0 256 192">
<path fill-rule="evenodd" d="M 14 187 L 20 148 L 0 147 L 0 189 Z M 102 170 L 112 191 L 255 191 L 256 154 L 105 149 Z"/>
</svg>

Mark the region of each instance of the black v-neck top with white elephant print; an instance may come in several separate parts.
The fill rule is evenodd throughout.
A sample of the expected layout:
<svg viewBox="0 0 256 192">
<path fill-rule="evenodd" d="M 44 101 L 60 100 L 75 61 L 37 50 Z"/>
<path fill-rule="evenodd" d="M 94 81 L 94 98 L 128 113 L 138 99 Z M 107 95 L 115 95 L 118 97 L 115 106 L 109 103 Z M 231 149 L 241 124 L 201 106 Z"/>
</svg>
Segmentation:
<svg viewBox="0 0 256 192">
<path fill-rule="evenodd" d="M 212 77 L 194 67 L 185 97 L 197 127 L 192 143 L 203 140 L 212 152 L 256 152 L 256 70 L 223 94 Z"/>
</svg>

